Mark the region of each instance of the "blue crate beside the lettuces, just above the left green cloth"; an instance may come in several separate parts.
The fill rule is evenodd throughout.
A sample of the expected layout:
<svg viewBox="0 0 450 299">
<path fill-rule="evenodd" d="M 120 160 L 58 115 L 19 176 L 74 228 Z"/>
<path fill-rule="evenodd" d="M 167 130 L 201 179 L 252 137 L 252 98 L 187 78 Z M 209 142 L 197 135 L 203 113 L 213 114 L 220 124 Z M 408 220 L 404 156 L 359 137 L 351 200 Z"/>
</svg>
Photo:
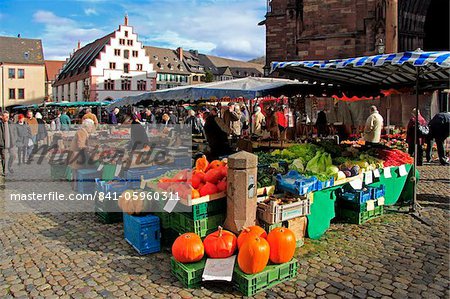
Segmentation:
<svg viewBox="0 0 450 299">
<path fill-rule="evenodd" d="M 306 178 L 297 171 L 291 170 L 286 175 L 278 174 L 276 177 L 277 189 L 296 195 L 305 195 L 317 191 L 317 178 Z"/>
</svg>

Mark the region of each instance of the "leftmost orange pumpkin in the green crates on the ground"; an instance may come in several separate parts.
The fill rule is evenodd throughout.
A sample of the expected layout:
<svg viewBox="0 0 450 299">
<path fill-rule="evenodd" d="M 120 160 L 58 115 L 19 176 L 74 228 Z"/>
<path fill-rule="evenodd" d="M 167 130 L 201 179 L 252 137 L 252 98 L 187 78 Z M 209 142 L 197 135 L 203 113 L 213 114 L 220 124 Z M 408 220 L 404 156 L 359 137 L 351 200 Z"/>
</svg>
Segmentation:
<svg viewBox="0 0 450 299">
<path fill-rule="evenodd" d="M 172 244 L 172 255 L 180 263 L 198 262 L 205 255 L 202 239 L 194 233 L 182 234 Z"/>
</svg>

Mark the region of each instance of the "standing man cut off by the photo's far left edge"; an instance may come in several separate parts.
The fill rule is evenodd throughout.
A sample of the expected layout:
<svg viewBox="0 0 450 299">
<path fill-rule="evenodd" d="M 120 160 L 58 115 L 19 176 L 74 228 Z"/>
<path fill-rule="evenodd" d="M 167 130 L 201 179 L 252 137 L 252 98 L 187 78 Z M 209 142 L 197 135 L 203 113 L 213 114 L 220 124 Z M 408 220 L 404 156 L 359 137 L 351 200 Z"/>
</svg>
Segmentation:
<svg viewBox="0 0 450 299">
<path fill-rule="evenodd" d="M 14 162 L 14 146 L 16 141 L 16 134 L 14 124 L 9 120 L 9 112 L 3 111 L 3 119 L 0 123 L 0 151 L 2 159 L 2 175 L 6 173 L 6 160 L 8 160 L 8 171 L 13 174 L 12 165 Z"/>
</svg>

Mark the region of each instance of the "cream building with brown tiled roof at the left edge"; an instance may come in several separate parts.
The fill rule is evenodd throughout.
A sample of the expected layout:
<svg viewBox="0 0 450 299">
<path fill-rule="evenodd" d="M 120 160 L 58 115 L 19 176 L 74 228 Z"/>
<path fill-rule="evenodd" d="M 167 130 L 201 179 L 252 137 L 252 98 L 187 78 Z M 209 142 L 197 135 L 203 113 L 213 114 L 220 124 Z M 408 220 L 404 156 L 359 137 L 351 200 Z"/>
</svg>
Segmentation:
<svg viewBox="0 0 450 299">
<path fill-rule="evenodd" d="M 37 104 L 45 98 L 45 66 L 39 39 L 0 36 L 0 104 Z"/>
</svg>

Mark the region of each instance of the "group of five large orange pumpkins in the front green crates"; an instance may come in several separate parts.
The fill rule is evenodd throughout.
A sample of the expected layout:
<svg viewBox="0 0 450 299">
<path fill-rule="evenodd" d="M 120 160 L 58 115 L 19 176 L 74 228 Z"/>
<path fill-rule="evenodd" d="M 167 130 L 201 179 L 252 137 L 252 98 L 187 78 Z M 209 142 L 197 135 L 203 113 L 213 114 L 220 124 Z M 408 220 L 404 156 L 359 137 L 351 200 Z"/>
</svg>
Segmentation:
<svg viewBox="0 0 450 299">
<path fill-rule="evenodd" d="M 201 260 L 205 253 L 209 258 L 227 258 L 238 249 L 239 268 L 246 274 L 255 274 L 263 271 L 269 260 L 274 264 L 289 262 L 295 248 L 295 235 L 285 227 L 275 228 L 267 234 L 262 227 L 250 226 L 236 238 L 219 226 L 203 243 L 193 233 L 179 236 L 172 245 L 172 255 L 181 263 L 193 263 Z"/>
</svg>

